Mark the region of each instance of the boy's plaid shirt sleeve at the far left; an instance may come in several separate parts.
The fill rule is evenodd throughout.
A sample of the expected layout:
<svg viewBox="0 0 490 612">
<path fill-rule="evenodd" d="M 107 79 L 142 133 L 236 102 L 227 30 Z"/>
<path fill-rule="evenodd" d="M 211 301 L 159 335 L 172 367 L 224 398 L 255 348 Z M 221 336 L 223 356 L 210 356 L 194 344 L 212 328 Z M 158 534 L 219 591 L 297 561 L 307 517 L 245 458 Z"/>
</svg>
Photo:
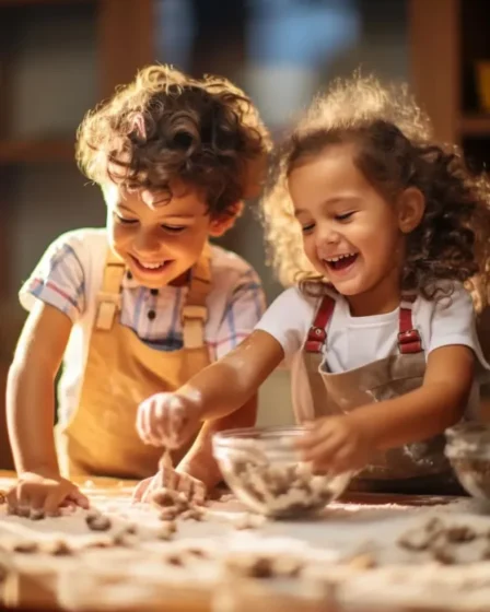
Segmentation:
<svg viewBox="0 0 490 612">
<path fill-rule="evenodd" d="M 72 321 L 85 308 L 85 279 L 82 264 L 67 236 L 61 236 L 46 250 L 31 278 L 20 292 L 21 302 L 28 308 L 40 299 L 58 308 Z"/>
</svg>

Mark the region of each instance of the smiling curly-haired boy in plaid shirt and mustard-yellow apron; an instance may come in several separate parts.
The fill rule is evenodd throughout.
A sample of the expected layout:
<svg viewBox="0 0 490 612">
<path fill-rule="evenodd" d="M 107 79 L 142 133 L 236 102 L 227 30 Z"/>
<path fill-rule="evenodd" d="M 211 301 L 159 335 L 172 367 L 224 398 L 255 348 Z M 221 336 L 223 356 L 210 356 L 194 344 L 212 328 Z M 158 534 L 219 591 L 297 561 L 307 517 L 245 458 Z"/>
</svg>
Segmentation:
<svg viewBox="0 0 490 612">
<path fill-rule="evenodd" d="M 21 290 L 31 313 L 8 380 L 19 473 L 8 496 L 12 511 L 86 505 L 66 480 L 73 475 L 147 479 L 137 499 L 162 483 L 202 499 L 220 480 L 212 434 L 252 425 L 254 393 L 237 412 L 205 423 L 174 454 L 176 469 L 166 462 L 161 472 L 162 450 L 137 434 L 137 408 L 152 393 L 178 389 L 260 318 L 264 295 L 253 268 L 208 240 L 259 193 L 268 150 L 244 92 L 164 66 L 143 69 L 86 115 L 77 155 L 103 190 L 107 226 L 60 236 Z"/>
</svg>

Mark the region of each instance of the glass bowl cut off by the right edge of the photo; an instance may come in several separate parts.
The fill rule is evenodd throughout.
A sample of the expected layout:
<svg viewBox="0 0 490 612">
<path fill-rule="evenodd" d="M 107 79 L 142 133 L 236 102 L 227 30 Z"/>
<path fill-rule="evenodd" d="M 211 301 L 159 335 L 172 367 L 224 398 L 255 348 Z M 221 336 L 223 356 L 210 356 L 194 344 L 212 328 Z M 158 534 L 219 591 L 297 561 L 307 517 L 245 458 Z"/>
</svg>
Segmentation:
<svg viewBox="0 0 490 612">
<path fill-rule="evenodd" d="M 446 431 L 445 455 L 462 486 L 490 502 L 490 423 L 467 422 Z"/>
</svg>

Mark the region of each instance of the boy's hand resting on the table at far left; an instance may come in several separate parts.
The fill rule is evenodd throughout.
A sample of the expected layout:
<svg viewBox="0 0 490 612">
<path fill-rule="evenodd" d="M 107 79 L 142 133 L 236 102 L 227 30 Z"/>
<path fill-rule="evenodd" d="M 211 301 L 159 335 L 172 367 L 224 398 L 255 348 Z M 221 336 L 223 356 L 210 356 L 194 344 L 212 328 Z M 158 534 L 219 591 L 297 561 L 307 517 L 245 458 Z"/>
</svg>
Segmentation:
<svg viewBox="0 0 490 612">
<path fill-rule="evenodd" d="M 72 482 L 58 474 L 24 472 L 7 492 L 11 514 L 24 517 L 57 516 L 60 507 L 89 508 L 89 498 Z"/>
</svg>

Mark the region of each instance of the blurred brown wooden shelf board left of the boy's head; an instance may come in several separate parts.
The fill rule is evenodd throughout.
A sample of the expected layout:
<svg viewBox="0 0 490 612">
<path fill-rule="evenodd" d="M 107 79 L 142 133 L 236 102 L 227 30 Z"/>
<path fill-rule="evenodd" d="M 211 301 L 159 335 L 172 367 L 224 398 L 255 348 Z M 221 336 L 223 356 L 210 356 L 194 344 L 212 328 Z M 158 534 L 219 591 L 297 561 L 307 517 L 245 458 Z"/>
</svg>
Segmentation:
<svg viewBox="0 0 490 612">
<path fill-rule="evenodd" d="M 39 162 L 74 162 L 70 139 L 0 140 L 0 165 Z"/>
</svg>

